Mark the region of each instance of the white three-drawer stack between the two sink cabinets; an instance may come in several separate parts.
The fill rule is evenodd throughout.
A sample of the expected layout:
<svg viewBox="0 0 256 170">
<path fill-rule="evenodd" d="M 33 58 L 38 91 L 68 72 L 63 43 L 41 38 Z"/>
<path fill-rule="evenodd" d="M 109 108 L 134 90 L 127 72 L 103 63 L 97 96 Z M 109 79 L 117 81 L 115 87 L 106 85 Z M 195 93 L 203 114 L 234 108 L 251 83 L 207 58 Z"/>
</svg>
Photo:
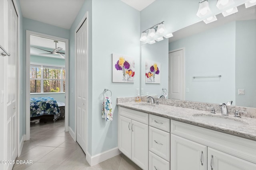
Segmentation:
<svg viewBox="0 0 256 170">
<path fill-rule="evenodd" d="M 170 170 L 170 119 L 149 115 L 149 170 Z"/>
</svg>

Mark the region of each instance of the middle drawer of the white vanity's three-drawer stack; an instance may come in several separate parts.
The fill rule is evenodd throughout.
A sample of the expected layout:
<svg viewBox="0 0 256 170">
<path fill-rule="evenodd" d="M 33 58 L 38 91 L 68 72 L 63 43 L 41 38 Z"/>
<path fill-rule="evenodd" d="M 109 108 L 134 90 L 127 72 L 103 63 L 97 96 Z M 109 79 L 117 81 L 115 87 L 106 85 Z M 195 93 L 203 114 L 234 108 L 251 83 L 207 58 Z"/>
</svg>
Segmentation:
<svg viewBox="0 0 256 170">
<path fill-rule="evenodd" d="M 150 126 L 149 150 L 170 161 L 170 133 Z"/>
</svg>

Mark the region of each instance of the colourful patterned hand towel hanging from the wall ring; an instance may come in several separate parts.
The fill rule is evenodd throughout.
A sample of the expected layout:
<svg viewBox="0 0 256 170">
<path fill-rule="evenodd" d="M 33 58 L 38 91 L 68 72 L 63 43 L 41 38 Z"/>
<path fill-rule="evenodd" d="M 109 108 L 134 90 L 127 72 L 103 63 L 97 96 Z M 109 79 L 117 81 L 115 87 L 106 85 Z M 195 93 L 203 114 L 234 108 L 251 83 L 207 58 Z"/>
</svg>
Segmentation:
<svg viewBox="0 0 256 170">
<path fill-rule="evenodd" d="M 104 97 L 104 102 L 102 104 L 102 118 L 106 121 L 113 120 L 112 101 L 110 97 Z"/>
</svg>

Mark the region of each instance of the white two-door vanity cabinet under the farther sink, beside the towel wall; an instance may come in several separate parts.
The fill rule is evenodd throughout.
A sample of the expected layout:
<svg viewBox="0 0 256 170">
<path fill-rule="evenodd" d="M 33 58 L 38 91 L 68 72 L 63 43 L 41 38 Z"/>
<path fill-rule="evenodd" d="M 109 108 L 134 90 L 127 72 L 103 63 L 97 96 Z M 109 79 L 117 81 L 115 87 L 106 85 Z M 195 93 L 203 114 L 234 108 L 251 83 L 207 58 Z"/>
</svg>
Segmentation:
<svg viewBox="0 0 256 170">
<path fill-rule="evenodd" d="M 148 170 L 148 113 L 118 107 L 118 148 Z"/>
</svg>

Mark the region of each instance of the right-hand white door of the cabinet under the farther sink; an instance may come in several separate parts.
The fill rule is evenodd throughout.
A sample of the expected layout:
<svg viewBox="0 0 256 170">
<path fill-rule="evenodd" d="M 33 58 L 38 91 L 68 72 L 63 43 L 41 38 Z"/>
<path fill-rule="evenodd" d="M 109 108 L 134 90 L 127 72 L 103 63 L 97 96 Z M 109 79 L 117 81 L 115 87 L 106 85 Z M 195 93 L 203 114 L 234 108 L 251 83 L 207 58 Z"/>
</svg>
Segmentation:
<svg viewBox="0 0 256 170">
<path fill-rule="evenodd" d="M 132 161 L 148 169 L 148 125 L 132 120 Z"/>
</svg>

